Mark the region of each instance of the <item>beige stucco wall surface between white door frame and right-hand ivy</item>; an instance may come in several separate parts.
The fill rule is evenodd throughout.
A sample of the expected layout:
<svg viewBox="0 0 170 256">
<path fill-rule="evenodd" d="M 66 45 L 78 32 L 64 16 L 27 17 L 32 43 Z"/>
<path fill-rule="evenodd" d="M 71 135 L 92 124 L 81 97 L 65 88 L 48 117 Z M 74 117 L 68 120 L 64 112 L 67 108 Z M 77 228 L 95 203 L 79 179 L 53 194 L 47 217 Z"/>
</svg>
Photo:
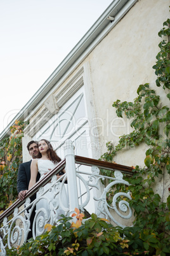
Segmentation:
<svg viewBox="0 0 170 256">
<path fill-rule="evenodd" d="M 138 1 L 84 61 L 89 62 L 96 117 L 100 117 L 96 121 L 101 153 L 107 141 L 116 143 L 121 134 L 131 131 L 129 120 L 117 118 L 114 101 L 133 101 L 140 84 L 150 83 L 155 88 L 152 66 L 159 52 L 157 33 L 169 17 L 169 3 Z M 115 160 L 129 166 L 143 165 L 144 149 L 134 148 Z"/>
</svg>

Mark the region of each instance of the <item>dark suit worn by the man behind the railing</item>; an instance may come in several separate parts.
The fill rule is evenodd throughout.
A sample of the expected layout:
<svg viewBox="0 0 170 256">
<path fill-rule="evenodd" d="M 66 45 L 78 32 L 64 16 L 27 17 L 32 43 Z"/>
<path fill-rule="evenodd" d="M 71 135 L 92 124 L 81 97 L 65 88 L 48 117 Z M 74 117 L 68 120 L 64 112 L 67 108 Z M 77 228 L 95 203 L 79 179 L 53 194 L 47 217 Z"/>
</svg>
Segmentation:
<svg viewBox="0 0 170 256">
<path fill-rule="evenodd" d="M 29 188 L 29 182 L 30 182 L 30 160 L 29 162 L 23 162 L 20 164 L 19 169 L 18 169 L 18 176 L 17 176 L 17 191 L 18 194 L 22 190 L 27 190 Z M 37 174 L 37 181 L 40 178 L 40 174 Z M 36 194 L 32 197 L 30 197 L 31 202 L 36 199 Z M 32 215 L 30 217 L 30 229 L 31 231 L 28 234 L 27 239 L 32 238 L 32 224 L 35 216 L 35 209 L 32 211 Z"/>
</svg>

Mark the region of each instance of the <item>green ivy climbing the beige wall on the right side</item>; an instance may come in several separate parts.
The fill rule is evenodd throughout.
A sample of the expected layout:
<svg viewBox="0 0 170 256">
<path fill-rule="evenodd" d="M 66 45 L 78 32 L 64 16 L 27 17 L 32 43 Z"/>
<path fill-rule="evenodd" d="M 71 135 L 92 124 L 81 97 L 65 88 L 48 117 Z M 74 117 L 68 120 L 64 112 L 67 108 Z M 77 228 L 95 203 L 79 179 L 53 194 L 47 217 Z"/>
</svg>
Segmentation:
<svg viewBox="0 0 170 256">
<path fill-rule="evenodd" d="M 133 102 L 121 102 L 117 99 L 112 106 L 117 109 L 118 117 L 132 120 L 133 132 L 122 135 L 119 144 L 115 147 L 108 142 L 108 151 L 101 156 L 101 159 L 113 161 L 114 156 L 122 150 L 127 148 L 130 150 L 140 146 L 141 143 L 147 145 L 145 166 L 143 168 L 136 166 L 133 176 L 126 177 L 131 184 L 130 205 L 134 209 L 136 218 L 134 227 L 124 229 L 124 236 L 129 240 L 128 245 L 133 253 L 140 255 L 170 253 L 170 187 L 165 186 L 164 182 L 165 177 L 169 179 L 170 174 L 170 20 L 167 19 L 163 25 L 159 36 L 164 39 L 159 43 L 160 52 L 157 54 L 157 62 L 153 68 L 157 75 L 156 86 L 164 89 L 167 104 L 160 101 L 160 96 L 154 89 L 150 89 L 148 83 L 138 87 L 138 97 Z M 101 170 L 101 172 L 112 176 L 109 171 Z M 158 177 L 162 177 L 162 197 L 153 190 Z M 167 196 L 164 196 L 165 194 Z"/>
</svg>

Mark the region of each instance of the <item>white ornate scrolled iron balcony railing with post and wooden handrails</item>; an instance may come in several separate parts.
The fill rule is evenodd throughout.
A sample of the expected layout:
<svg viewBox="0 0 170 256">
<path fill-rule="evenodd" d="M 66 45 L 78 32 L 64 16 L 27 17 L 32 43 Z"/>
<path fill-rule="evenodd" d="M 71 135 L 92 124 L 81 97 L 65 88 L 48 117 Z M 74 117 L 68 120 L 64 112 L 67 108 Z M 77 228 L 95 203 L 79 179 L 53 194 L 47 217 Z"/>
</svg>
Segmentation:
<svg viewBox="0 0 170 256">
<path fill-rule="evenodd" d="M 56 174 L 64 168 L 66 173 L 57 179 Z M 112 171 L 113 178 L 101 175 L 99 168 Z M 124 180 L 122 173 L 131 174 L 132 169 L 128 166 L 76 156 L 72 141 L 66 141 L 65 159 L 28 190 L 24 201 L 17 199 L 0 215 L 0 255 L 6 255 L 6 246 L 11 248 L 26 242 L 30 225 L 32 237 L 35 239 L 45 231 L 45 224 L 57 225 L 60 214 L 69 216 L 75 207 L 81 211 L 86 208 L 88 211 L 95 211 L 98 217 L 110 218 L 113 224 L 121 227 L 131 225 L 128 222 L 133 218 L 133 211 L 128 202 L 131 200 L 128 192 L 129 183 Z M 44 187 L 46 184 L 48 187 Z M 126 192 L 116 193 L 117 184 L 127 187 Z M 30 201 L 30 197 L 36 193 L 36 199 Z M 35 216 L 31 224 L 34 211 Z"/>
</svg>

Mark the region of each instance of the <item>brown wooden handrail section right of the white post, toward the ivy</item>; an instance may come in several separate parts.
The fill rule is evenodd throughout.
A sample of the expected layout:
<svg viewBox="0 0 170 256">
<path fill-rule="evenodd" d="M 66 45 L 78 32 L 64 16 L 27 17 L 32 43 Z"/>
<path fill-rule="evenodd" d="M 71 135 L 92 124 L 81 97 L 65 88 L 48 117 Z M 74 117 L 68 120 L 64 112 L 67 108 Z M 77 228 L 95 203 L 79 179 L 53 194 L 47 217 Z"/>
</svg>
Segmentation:
<svg viewBox="0 0 170 256">
<path fill-rule="evenodd" d="M 121 164 L 116 164 L 112 162 L 105 162 L 101 160 L 91 159 L 88 157 L 80 157 L 79 155 L 75 155 L 75 163 L 76 164 L 84 164 L 86 166 L 97 166 L 102 169 L 108 169 L 110 171 L 119 170 L 122 173 L 132 174 L 133 167 L 130 166 L 122 166 Z"/>
</svg>

